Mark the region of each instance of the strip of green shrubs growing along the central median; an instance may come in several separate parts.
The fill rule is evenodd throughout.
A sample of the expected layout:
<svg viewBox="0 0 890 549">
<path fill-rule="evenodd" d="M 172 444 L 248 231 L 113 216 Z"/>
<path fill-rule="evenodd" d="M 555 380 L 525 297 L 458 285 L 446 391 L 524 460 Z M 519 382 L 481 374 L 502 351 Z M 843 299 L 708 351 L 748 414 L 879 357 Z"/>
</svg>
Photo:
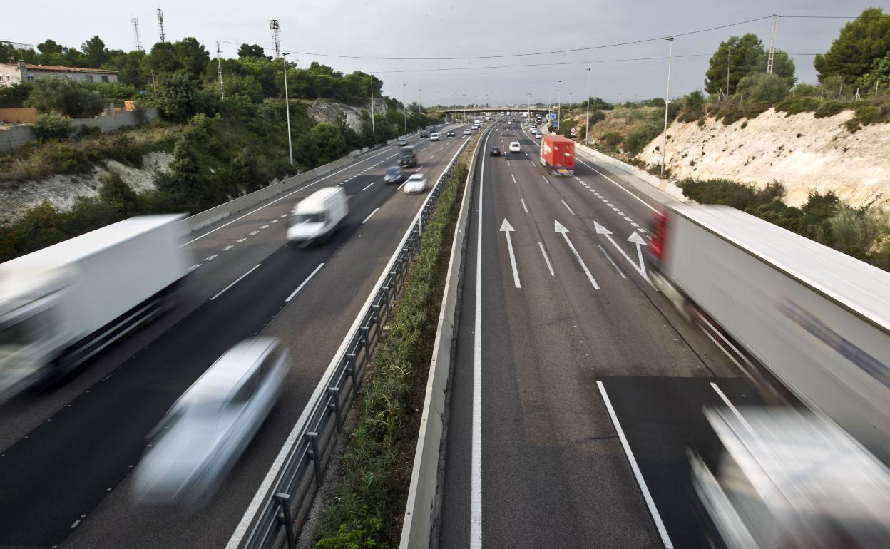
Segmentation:
<svg viewBox="0 0 890 549">
<path fill-rule="evenodd" d="M 467 167 L 458 164 L 421 239 L 386 337 L 374 353 L 356 406 L 359 422 L 347 440 L 325 506 L 319 547 L 349 549 L 398 545 L 401 517 L 417 441 L 419 416 L 412 388 L 429 362 L 439 299 L 437 285 L 449 258 L 449 226 L 457 216 Z"/>
</svg>

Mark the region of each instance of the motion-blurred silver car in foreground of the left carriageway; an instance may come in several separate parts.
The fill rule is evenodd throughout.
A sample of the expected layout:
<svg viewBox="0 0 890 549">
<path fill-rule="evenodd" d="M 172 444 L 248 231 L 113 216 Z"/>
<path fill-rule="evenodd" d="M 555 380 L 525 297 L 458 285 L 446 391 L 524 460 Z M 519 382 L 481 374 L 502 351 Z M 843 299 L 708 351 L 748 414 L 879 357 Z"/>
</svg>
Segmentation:
<svg viewBox="0 0 890 549">
<path fill-rule="evenodd" d="M 137 497 L 187 508 L 206 503 L 269 415 L 287 368 L 287 349 L 273 338 L 226 351 L 149 434 L 134 472 Z"/>
</svg>

